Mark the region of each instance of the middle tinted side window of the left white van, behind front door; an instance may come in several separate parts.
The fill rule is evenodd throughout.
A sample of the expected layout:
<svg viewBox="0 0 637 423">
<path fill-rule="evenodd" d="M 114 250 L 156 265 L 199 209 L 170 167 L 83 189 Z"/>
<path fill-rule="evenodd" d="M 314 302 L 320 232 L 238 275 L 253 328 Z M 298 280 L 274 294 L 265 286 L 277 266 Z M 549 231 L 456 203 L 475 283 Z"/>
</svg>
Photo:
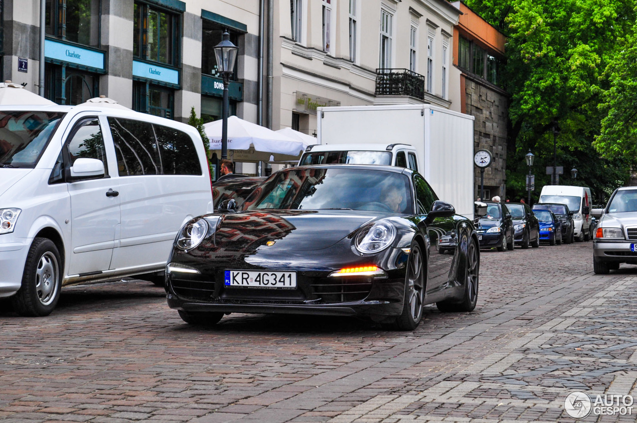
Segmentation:
<svg viewBox="0 0 637 423">
<path fill-rule="evenodd" d="M 139 120 L 108 118 L 120 176 L 161 175 L 153 126 Z"/>
</svg>

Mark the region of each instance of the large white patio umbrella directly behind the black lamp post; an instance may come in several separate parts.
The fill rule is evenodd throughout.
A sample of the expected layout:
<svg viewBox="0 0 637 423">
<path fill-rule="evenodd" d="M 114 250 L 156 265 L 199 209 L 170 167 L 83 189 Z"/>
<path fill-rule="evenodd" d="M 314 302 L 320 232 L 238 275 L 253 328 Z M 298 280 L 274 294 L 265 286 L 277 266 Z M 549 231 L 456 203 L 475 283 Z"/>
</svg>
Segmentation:
<svg viewBox="0 0 637 423">
<path fill-rule="evenodd" d="M 210 150 L 220 157 L 222 120 L 203 125 L 210 139 Z M 303 141 L 276 133 L 236 116 L 228 118 L 228 158 L 240 162 L 285 162 L 299 159 Z"/>
</svg>

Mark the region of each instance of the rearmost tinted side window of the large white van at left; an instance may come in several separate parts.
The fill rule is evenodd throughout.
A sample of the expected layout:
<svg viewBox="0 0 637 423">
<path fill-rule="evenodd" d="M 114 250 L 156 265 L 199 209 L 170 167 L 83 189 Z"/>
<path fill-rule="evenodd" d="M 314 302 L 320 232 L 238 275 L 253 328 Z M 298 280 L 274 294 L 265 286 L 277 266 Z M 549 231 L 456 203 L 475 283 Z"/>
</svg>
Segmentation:
<svg viewBox="0 0 637 423">
<path fill-rule="evenodd" d="M 163 125 L 153 125 L 159 144 L 162 175 L 201 175 L 199 155 L 187 133 Z"/>
</svg>

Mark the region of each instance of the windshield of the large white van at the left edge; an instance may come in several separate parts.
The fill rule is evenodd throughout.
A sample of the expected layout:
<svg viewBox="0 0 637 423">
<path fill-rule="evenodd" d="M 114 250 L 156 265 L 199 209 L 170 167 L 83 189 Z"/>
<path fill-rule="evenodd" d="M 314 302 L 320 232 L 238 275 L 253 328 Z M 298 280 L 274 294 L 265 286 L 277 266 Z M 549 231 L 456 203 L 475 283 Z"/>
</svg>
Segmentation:
<svg viewBox="0 0 637 423">
<path fill-rule="evenodd" d="M 34 168 L 66 113 L 0 111 L 0 168 Z"/>
</svg>

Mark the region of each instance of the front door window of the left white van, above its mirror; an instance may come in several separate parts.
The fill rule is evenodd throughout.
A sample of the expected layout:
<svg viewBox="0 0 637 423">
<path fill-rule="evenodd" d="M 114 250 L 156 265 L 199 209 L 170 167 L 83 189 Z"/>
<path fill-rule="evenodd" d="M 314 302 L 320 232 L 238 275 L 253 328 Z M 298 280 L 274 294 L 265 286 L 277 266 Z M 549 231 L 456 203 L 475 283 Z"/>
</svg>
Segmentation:
<svg viewBox="0 0 637 423">
<path fill-rule="evenodd" d="M 96 117 L 82 119 L 75 124 L 66 143 L 66 150 L 69 154 L 69 167 L 77 159 L 97 159 L 104 163 L 104 175 L 108 175 L 104 139 Z"/>
</svg>

